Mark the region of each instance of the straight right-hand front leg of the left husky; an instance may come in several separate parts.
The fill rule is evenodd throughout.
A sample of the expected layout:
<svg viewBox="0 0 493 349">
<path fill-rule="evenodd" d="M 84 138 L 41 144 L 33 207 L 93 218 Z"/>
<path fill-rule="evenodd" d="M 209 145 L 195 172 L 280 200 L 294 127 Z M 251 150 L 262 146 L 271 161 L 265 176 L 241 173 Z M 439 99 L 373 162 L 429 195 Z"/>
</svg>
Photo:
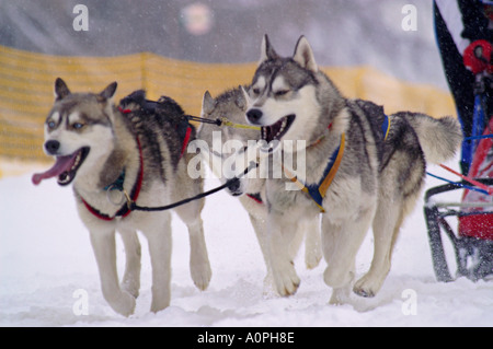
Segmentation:
<svg viewBox="0 0 493 349">
<path fill-rule="evenodd" d="M 171 299 L 171 214 L 162 212 L 148 216 L 142 234 L 149 244 L 152 266 L 151 312 L 159 312 L 170 305 Z"/>
</svg>

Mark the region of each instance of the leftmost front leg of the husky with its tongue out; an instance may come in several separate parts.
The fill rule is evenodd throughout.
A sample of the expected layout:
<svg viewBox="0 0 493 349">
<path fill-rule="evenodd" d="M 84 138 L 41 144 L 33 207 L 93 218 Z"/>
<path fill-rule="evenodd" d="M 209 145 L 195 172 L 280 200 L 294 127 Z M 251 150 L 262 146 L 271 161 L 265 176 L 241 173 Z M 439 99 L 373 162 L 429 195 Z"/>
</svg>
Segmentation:
<svg viewBox="0 0 493 349">
<path fill-rule="evenodd" d="M 129 316 L 135 310 L 135 298 L 122 291 L 116 271 L 115 231 L 91 231 L 91 244 L 100 270 L 104 299 L 113 310 Z"/>
</svg>

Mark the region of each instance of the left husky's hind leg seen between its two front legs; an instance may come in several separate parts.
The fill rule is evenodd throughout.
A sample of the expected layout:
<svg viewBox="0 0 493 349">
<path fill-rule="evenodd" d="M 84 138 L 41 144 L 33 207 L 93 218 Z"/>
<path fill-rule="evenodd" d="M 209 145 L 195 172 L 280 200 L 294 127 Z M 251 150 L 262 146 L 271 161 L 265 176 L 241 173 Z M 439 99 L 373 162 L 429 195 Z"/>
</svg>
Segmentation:
<svg viewBox="0 0 493 349">
<path fill-rule="evenodd" d="M 137 298 L 140 289 L 140 257 L 141 248 L 135 231 L 119 231 L 125 246 L 125 274 L 122 280 L 122 289 Z"/>
</svg>

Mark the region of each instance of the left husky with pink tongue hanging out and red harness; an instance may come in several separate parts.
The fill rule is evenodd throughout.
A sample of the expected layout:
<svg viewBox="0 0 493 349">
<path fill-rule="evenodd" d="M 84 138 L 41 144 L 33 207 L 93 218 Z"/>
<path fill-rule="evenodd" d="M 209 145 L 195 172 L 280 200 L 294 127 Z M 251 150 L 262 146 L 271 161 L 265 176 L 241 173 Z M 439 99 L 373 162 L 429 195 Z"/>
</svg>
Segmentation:
<svg viewBox="0 0 493 349">
<path fill-rule="evenodd" d="M 46 154 L 55 165 L 35 174 L 33 183 L 57 177 L 73 183 L 78 212 L 90 231 L 100 270 L 103 295 L 117 313 L 134 313 L 140 287 L 140 244 L 137 231 L 149 242 L 152 266 L 152 304 L 158 312 L 170 304 L 171 213 L 130 212 L 125 196 L 139 206 L 163 206 L 203 191 L 200 179 L 186 173 L 190 155 L 181 152 L 183 137 L 175 130 L 181 107 L 171 98 L 149 102 L 137 91 L 113 104 L 116 82 L 100 94 L 71 93 L 55 82 L 55 104 L 45 123 Z M 188 136 L 195 130 L 190 126 Z M 182 156 L 183 154 L 183 156 Z M 195 286 L 205 290 L 211 271 L 204 240 L 200 211 L 204 200 L 175 211 L 186 223 L 191 239 L 190 266 Z M 115 231 L 122 235 L 126 267 L 118 284 Z"/>
</svg>

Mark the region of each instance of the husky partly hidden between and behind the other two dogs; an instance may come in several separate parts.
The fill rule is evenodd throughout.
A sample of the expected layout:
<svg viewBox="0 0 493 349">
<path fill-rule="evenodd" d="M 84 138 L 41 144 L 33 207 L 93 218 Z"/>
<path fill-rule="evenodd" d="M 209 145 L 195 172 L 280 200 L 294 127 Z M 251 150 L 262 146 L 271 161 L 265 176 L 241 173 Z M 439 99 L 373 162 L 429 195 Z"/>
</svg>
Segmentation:
<svg viewBox="0 0 493 349">
<path fill-rule="evenodd" d="M 202 104 L 203 118 L 216 120 L 226 117 L 234 124 L 245 124 L 245 112 L 246 100 L 243 88 L 241 86 L 238 89 L 228 90 L 218 95 L 216 98 L 214 98 L 208 91 L 204 94 Z M 214 137 L 221 140 L 221 149 L 219 153 L 215 150 Z M 231 150 L 237 150 L 238 156 L 243 156 L 244 149 L 249 146 L 249 141 L 253 141 L 255 143 L 261 139 L 261 132 L 260 130 L 244 128 L 218 128 L 210 125 L 200 125 L 197 131 L 197 139 L 207 142 L 209 153 L 205 154 L 204 158 L 206 158 L 206 162 L 216 176 L 221 178 L 221 181 L 226 181 L 226 174 L 220 171 L 220 168 L 215 166 L 215 160 L 218 160 L 217 158 L 219 158 L 218 163 L 222 163 L 228 156 L 234 156 L 234 154 L 231 153 Z M 239 144 L 237 148 L 239 149 L 230 149 L 230 147 L 227 147 L 228 142 L 234 140 L 238 141 Z M 246 163 L 245 166 L 248 166 Z M 259 240 L 261 251 L 264 255 L 264 260 L 267 268 L 267 276 L 264 283 L 267 291 L 273 287 L 273 278 L 267 263 L 271 258 L 267 256 L 270 248 L 267 248 L 265 225 L 267 217 L 267 206 L 265 205 L 265 178 L 260 175 L 257 170 L 255 170 L 255 173 L 251 171 L 251 173 L 249 173 L 249 191 L 245 193 L 244 196 L 240 196 L 239 200 L 249 213 L 250 221 Z M 231 194 L 234 196 L 234 188 L 231 189 Z M 296 236 L 297 239 L 295 239 L 289 246 L 289 255 L 291 258 L 296 256 L 303 236 L 306 237 L 305 261 L 307 267 L 312 269 L 318 266 L 320 259 L 322 258 L 320 244 L 320 220 L 307 221 L 307 225 L 298 230 L 298 234 Z"/>
</svg>

